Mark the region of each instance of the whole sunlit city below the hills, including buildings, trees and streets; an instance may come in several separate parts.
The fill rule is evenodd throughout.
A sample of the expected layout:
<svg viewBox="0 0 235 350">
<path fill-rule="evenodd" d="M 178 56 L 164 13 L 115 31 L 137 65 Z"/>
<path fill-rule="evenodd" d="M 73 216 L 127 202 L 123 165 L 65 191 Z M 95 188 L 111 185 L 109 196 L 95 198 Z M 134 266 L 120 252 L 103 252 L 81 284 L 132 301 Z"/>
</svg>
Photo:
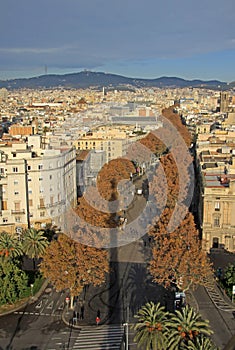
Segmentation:
<svg viewBox="0 0 235 350">
<path fill-rule="evenodd" d="M 235 349 L 235 92 L 0 89 L 0 349 Z"/>
</svg>

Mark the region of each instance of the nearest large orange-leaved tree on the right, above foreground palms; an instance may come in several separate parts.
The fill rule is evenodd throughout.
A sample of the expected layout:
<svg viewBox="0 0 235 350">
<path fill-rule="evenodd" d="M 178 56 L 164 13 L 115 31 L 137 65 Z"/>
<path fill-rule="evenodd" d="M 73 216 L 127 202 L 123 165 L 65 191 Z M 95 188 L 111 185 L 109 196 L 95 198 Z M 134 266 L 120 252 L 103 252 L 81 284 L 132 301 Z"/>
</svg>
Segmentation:
<svg viewBox="0 0 235 350">
<path fill-rule="evenodd" d="M 154 239 L 149 266 L 153 280 L 165 287 L 175 285 L 183 291 L 204 285 L 205 279 L 212 275 L 212 267 L 201 249 L 192 214 L 188 213 L 173 232 L 167 230 L 168 219 L 169 215 L 162 215 L 149 232 Z"/>
</svg>

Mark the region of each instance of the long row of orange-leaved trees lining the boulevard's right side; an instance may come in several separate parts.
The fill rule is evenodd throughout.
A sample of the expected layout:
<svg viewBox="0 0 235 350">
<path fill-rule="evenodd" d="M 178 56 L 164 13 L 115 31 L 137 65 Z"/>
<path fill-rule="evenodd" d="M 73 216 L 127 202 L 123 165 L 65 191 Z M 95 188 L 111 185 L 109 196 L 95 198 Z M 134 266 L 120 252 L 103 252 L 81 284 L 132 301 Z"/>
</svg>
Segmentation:
<svg viewBox="0 0 235 350">
<path fill-rule="evenodd" d="M 163 111 L 165 118 L 177 128 L 183 137 L 186 147 L 191 144 L 191 136 L 186 127 L 182 125 L 178 114 L 173 108 Z M 155 282 L 169 287 L 175 284 L 181 290 L 188 290 L 196 284 L 204 284 L 205 279 L 212 274 L 211 264 L 206 252 L 201 249 L 199 233 L 196 229 L 193 215 L 187 212 L 182 215 L 182 220 L 169 229 L 174 208 L 178 206 L 177 213 L 184 213 L 184 197 L 187 195 L 189 184 L 182 180 L 189 176 L 187 164 L 190 163 L 190 155 L 185 159 L 185 152 L 181 152 L 180 143 L 175 143 L 176 152 L 168 153 L 160 158 L 161 166 L 167 181 L 167 201 L 161 216 L 149 231 L 153 237 L 152 260 L 149 271 Z M 181 159 L 182 158 L 182 159 Z M 182 165 L 177 169 L 177 165 Z M 183 167 L 183 165 L 185 165 Z M 180 172 L 180 173 L 179 173 Z M 180 186 L 180 176 L 181 186 Z M 155 176 L 151 184 L 152 192 L 159 192 L 159 177 Z M 179 201 L 179 195 L 181 200 Z M 163 196 L 162 196 L 163 197 Z M 185 211 L 186 212 L 186 211 Z"/>
</svg>

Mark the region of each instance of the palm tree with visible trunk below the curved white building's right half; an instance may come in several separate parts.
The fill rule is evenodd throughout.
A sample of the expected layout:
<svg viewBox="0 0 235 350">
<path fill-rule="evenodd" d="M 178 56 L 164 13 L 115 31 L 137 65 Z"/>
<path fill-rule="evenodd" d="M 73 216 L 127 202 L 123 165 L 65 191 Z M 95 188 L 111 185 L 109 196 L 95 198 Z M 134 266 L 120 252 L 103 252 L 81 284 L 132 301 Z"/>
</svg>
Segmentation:
<svg viewBox="0 0 235 350">
<path fill-rule="evenodd" d="M 43 231 L 37 231 L 30 228 L 25 231 L 23 238 L 23 251 L 31 259 L 33 259 L 33 267 L 35 270 L 35 258 L 43 256 L 49 242 L 43 235 Z"/>
</svg>

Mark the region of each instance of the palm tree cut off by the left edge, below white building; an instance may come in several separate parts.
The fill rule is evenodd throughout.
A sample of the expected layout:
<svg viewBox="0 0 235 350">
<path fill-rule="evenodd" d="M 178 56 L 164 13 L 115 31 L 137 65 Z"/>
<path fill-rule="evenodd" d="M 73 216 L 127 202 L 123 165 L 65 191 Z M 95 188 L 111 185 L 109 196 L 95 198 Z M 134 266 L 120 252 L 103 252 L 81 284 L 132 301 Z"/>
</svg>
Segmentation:
<svg viewBox="0 0 235 350">
<path fill-rule="evenodd" d="M 21 243 L 15 234 L 5 231 L 0 233 L 0 256 L 3 258 L 16 258 L 23 255 Z"/>
</svg>

